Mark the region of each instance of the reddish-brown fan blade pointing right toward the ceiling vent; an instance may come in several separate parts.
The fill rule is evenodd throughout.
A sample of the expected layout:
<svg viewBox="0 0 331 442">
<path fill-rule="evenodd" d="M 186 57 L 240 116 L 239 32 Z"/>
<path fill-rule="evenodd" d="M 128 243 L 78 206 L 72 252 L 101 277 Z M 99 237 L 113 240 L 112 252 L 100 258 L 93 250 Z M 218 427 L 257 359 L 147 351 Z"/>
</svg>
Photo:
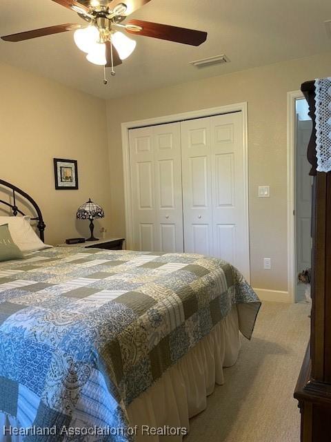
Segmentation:
<svg viewBox="0 0 331 442">
<path fill-rule="evenodd" d="M 176 41 L 177 43 L 199 46 L 207 39 L 207 32 L 201 30 L 177 28 L 177 26 L 152 23 L 151 21 L 130 20 L 126 25 L 140 26 L 141 30 L 127 28 L 130 34 L 145 35 L 154 39 Z"/>
</svg>

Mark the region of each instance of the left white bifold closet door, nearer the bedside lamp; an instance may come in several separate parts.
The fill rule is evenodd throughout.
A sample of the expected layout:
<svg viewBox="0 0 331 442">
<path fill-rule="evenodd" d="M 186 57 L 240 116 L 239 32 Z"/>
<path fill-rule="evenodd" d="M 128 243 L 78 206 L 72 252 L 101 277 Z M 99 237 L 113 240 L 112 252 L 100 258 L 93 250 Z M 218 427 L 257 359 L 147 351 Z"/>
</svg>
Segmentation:
<svg viewBox="0 0 331 442">
<path fill-rule="evenodd" d="M 183 252 L 180 123 L 130 130 L 133 249 Z"/>
</svg>

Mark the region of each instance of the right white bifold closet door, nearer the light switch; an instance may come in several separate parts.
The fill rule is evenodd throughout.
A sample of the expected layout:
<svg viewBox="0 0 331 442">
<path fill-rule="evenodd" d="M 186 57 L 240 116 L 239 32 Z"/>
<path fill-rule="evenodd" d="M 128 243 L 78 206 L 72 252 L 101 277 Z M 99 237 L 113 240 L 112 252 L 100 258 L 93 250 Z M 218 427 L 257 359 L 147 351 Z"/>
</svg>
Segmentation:
<svg viewBox="0 0 331 442">
<path fill-rule="evenodd" d="M 249 277 L 241 113 L 181 123 L 185 252 L 231 262 Z"/>
</svg>

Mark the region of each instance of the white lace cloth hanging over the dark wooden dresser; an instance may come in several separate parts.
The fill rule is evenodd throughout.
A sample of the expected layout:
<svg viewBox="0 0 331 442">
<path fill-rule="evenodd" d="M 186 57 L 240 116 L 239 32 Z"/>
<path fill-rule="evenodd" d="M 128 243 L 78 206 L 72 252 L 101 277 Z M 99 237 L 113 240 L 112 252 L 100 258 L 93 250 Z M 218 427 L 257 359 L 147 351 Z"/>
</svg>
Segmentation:
<svg viewBox="0 0 331 442">
<path fill-rule="evenodd" d="M 331 171 L 331 77 L 315 81 L 317 171 Z"/>
</svg>

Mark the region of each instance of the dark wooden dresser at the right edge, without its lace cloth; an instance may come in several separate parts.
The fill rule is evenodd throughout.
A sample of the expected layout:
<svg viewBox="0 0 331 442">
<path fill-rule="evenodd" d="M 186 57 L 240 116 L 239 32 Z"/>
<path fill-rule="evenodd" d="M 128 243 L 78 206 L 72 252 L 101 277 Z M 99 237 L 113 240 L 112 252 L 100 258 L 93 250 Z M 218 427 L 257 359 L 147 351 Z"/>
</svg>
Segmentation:
<svg viewBox="0 0 331 442">
<path fill-rule="evenodd" d="M 314 81 L 303 83 L 313 122 L 311 338 L 294 392 L 301 411 L 301 442 L 331 441 L 331 173 L 317 172 Z M 290 441 L 289 441 L 290 442 Z M 291 441 L 292 442 L 292 441 Z"/>
</svg>

